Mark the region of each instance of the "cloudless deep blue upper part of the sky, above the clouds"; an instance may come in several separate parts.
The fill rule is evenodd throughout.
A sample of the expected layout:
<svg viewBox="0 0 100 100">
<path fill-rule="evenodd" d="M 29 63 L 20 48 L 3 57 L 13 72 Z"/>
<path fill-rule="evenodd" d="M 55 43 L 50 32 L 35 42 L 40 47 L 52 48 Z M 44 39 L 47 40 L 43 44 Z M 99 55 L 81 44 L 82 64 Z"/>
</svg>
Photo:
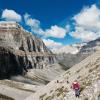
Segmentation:
<svg viewBox="0 0 100 100">
<path fill-rule="evenodd" d="M 59 24 L 72 17 L 84 6 L 92 5 L 96 0 L 0 0 L 0 9 L 13 9 L 19 14 L 25 12 L 41 21 L 44 27 Z"/>
</svg>

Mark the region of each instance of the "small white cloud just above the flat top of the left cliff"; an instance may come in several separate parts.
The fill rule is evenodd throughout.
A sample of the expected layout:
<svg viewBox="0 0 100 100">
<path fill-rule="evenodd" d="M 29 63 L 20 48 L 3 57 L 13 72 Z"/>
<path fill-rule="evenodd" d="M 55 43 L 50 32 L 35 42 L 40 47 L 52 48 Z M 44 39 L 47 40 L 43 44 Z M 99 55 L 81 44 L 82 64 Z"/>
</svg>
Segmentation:
<svg viewBox="0 0 100 100">
<path fill-rule="evenodd" d="M 16 21 L 16 22 L 20 22 L 22 19 L 20 14 L 16 13 L 14 10 L 8 10 L 8 9 L 5 9 L 2 12 L 1 18 L 7 21 Z"/>
</svg>

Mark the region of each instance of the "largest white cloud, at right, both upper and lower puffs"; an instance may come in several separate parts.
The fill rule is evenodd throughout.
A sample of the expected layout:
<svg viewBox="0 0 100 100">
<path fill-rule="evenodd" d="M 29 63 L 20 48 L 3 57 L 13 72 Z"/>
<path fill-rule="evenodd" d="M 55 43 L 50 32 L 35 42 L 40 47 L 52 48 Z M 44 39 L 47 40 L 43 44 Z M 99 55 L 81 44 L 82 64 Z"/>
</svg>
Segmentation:
<svg viewBox="0 0 100 100">
<path fill-rule="evenodd" d="M 100 37 L 100 9 L 96 5 L 84 8 L 73 19 L 75 31 L 70 33 L 71 36 L 83 41 L 91 41 Z"/>
</svg>

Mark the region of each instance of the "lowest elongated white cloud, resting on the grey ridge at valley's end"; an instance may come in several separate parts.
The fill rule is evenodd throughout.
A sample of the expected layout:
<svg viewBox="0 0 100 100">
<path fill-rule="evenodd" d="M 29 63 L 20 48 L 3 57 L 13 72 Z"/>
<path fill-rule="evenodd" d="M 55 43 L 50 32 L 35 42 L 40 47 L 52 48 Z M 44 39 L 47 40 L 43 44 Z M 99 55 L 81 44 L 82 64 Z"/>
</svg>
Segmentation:
<svg viewBox="0 0 100 100">
<path fill-rule="evenodd" d="M 45 45 L 50 48 L 54 53 L 71 53 L 76 54 L 79 49 L 77 46 L 65 46 L 60 42 L 55 42 L 54 40 L 50 39 L 43 39 Z"/>
</svg>

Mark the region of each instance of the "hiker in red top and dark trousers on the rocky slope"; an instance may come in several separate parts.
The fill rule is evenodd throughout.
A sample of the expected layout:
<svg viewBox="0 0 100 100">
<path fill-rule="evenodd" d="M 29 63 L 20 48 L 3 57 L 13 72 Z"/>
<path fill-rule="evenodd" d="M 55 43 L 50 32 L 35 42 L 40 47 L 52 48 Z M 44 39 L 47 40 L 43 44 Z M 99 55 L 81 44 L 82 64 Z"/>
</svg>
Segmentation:
<svg viewBox="0 0 100 100">
<path fill-rule="evenodd" d="M 77 80 L 75 80 L 75 81 L 72 83 L 71 88 L 75 91 L 75 96 L 76 96 L 76 97 L 79 97 L 79 96 L 80 96 L 80 84 L 78 83 Z"/>
</svg>

